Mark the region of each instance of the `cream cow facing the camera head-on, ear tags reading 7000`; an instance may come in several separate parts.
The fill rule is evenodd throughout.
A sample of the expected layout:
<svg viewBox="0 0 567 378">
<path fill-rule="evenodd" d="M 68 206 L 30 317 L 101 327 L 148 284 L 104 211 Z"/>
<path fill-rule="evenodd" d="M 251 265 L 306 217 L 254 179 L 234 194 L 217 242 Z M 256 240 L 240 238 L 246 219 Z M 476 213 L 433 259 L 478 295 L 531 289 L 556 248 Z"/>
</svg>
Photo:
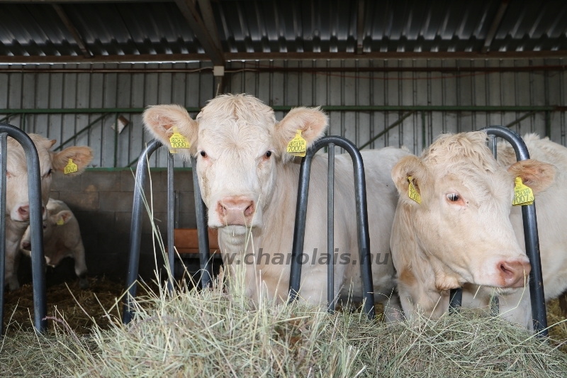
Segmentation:
<svg viewBox="0 0 567 378">
<path fill-rule="evenodd" d="M 276 122 L 269 106 L 240 94 L 216 97 L 194 121 L 181 106 L 152 106 L 145 111 L 144 122 L 165 145 L 171 146 L 169 138 L 175 130 L 191 143 L 190 149 L 177 152 L 197 157 L 208 226 L 218 228 L 220 250 L 232 274 L 243 262 L 247 295 L 258 300 L 265 293 L 285 301 L 299 176 L 299 165 L 286 146 L 298 130 L 308 145 L 321 138 L 328 123 L 325 113 L 296 108 Z M 394 148 L 362 152 L 369 191 L 374 292 L 376 301 L 384 303 L 394 289 L 388 242 L 398 194 L 390 172 L 405 155 L 408 152 Z M 346 299 L 350 289 L 353 299 L 361 300 L 350 157 L 337 156 L 335 169 L 335 293 Z M 303 299 L 313 304 L 327 298 L 326 183 L 327 155 L 317 155 L 311 168 L 300 289 Z M 250 232 L 252 238 L 248 238 Z"/>
</svg>

